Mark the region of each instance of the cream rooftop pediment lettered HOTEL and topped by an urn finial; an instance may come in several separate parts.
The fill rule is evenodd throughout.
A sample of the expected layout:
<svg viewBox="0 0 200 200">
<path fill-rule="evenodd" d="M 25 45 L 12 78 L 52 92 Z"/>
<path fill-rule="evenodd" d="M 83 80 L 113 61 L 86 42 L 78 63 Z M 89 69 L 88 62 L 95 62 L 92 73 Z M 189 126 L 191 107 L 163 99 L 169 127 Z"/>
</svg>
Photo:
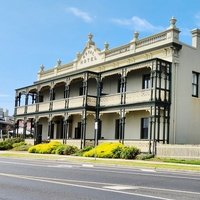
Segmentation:
<svg viewBox="0 0 200 200">
<path fill-rule="evenodd" d="M 95 46 L 92 41 L 92 34 L 88 35 L 88 42 L 82 53 L 77 54 L 77 67 L 87 67 L 102 61 L 101 51 Z"/>
</svg>

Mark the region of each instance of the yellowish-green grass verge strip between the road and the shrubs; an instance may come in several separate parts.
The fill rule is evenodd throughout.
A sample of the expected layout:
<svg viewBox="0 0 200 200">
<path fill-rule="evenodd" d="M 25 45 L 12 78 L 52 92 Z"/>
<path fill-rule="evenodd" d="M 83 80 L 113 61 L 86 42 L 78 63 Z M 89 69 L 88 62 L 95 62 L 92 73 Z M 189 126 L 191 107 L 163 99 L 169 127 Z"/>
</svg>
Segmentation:
<svg viewBox="0 0 200 200">
<path fill-rule="evenodd" d="M 71 161 L 74 163 L 90 163 L 99 165 L 110 165 L 110 166 L 123 166 L 123 167 L 137 167 L 137 168 L 151 168 L 158 170 L 182 170 L 182 171 L 197 171 L 200 172 L 200 165 L 194 165 L 195 162 L 185 164 L 186 160 L 182 160 L 182 163 L 177 163 L 176 159 L 157 159 L 157 160 L 122 160 L 122 159 L 101 159 L 101 158 L 85 158 L 76 156 L 63 156 L 55 154 L 31 154 L 26 152 L 14 152 L 6 151 L 1 152 L 0 157 L 12 157 L 12 158 L 23 158 L 23 159 L 41 159 L 41 160 L 62 160 Z M 171 161 L 171 162 L 170 162 Z M 180 161 L 180 160 L 179 160 Z M 199 161 L 197 160 L 197 163 Z"/>
</svg>

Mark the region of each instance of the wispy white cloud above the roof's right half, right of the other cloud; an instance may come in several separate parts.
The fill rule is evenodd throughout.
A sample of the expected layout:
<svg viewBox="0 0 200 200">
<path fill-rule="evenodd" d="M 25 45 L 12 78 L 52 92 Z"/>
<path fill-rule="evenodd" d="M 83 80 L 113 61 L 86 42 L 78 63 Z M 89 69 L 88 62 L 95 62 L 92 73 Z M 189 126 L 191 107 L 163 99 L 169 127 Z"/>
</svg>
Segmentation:
<svg viewBox="0 0 200 200">
<path fill-rule="evenodd" d="M 133 16 L 131 19 L 112 19 L 112 22 L 121 26 L 127 26 L 135 31 L 154 32 L 163 29 L 163 27 L 154 26 L 146 19 L 137 16 Z"/>
</svg>

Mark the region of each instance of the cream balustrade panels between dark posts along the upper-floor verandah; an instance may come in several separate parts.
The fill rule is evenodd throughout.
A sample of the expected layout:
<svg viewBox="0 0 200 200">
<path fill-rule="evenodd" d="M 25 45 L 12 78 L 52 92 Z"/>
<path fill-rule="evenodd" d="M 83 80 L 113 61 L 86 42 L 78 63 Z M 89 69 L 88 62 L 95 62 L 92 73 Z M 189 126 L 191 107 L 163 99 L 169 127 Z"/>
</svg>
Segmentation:
<svg viewBox="0 0 200 200">
<path fill-rule="evenodd" d="M 135 92 L 126 92 L 125 93 L 126 104 L 134 104 L 134 103 L 142 103 L 148 102 L 151 99 L 151 90 L 140 90 Z M 67 99 L 58 99 L 54 101 L 47 101 L 47 102 L 40 102 L 37 104 L 27 105 L 27 106 L 20 106 L 16 108 L 17 115 L 23 115 L 26 113 L 35 113 L 37 110 L 38 112 L 45 112 L 49 111 L 50 108 L 52 110 L 62 110 L 67 108 L 80 108 L 84 105 L 84 98 L 85 96 L 76 96 Z M 161 100 L 164 100 L 164 94 L 161 92 Z M 68 101 L 68 106 L 66 107 L 66 103 Z M 121 94 L 109 94 L 101 96 L 100 99 L 100 106 L 116 106 L 121 104 Z M 88 106 L 96 106 L 96 97 L 95 96 L 88 96 L 87 97 L 87 105 Z M 26 109 L 27 107 L 27 109 Z M 38 108 L 37 108 L 38 107 Z M 37 109 L 36 109 L 37 108 Z"/>
</svg>

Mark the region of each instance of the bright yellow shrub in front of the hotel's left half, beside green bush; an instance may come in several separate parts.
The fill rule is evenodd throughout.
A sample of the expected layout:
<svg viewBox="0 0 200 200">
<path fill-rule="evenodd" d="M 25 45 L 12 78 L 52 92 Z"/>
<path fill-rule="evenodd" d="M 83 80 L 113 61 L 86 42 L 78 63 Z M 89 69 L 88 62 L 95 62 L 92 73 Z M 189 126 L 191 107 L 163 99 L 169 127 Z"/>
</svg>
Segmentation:
<svg viewBox="0 0 200 200">
<path fill-rule="evenodd" d="M 42 153 L 53 154 L 56 153 L 56 149 L 61 145 L 60 142 L 53 141 L 45 144 L 38 144 L 29 148 L 29 153 Z"/>
</svg>

